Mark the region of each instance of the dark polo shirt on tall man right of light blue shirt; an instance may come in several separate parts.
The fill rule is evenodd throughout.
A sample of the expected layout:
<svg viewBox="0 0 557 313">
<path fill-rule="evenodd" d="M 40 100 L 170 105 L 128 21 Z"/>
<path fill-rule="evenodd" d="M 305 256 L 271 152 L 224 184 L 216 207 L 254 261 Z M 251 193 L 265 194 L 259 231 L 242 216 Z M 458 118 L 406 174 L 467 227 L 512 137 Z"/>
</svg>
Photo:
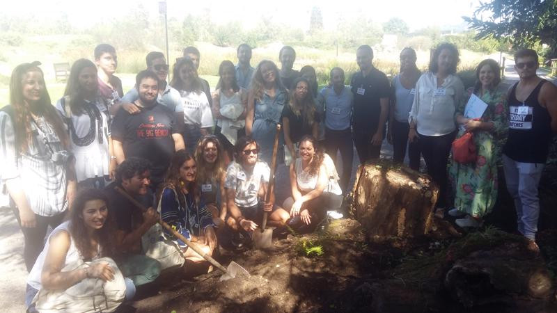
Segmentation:
<svg viewBox="0 0 557 313">
<path fill-rule="evenodd" d="M 386 75 L 372 67 L 366 77 L 357 72 L 350 83 L 354 94 L 354 113 L 352 114 L 352 129 L 366 134 L 375 134 L 381 104 L 379 99 L 388 98 L 391 93 L 389 79 Z"/>
</svg>

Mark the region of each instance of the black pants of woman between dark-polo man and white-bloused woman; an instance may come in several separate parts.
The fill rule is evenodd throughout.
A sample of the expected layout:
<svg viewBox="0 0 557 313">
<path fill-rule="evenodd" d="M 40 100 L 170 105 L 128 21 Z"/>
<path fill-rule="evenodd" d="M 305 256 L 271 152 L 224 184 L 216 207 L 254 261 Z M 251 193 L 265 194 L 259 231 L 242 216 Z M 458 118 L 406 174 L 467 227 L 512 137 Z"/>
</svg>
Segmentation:
<svg viewBox="0 0 557 313">
<path fill-rule="evenodd" d="M 393 162 L 403 163 L 406 156 L 406 144 L 408 143 L 408 131 L 410 126 L 405 122 L 393 120 Z M 412 170 L 420 169 L 420 146 L 416 141 L 408 143 L 408 157 Z"/>
</svg>

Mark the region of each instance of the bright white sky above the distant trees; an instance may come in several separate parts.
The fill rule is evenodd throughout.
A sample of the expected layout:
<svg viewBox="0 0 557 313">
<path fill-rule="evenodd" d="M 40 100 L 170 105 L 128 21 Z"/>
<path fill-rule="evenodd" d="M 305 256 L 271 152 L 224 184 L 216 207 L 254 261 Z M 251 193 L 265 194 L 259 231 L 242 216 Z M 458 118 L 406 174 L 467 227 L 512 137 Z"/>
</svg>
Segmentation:
<svg viewBox="0 0 557 313">
<path fill-rule="evenodd" d="M 99 17 L 125 15 L 130 7 L 138 3 L 151 11 L 152 15 L 157 15 L 159 0 L 19 0 L 10 1 L 9 6 L 2 6 L 2 10 L 5 14 L 16 16 L 28 13 L 29 8 L 33 8 L 38 15 L 59 15 L 63 11 L 72 24 L 87 26 L 94 24 Z M 196 5 L 192 6 L 193 3 Z M 317 6 L 322 11 L 325 29 L 334 29 L 340 17 L 350 19 L 363 14 L 378 23 L 399 17 L 408 24 L 410 31 L 416 31 L 427 26 L 462 24 L 464 21 L 461 17 L 471 16 L 478 3 L 479 0 L 167 0 L 167 8 L 168 17 L 179 20 L 188 14 L 208 14 L 216 24 L 240 20 L 245 29 L 250 29 L 259 21 L 259 17 L 267 16 L 272 17 L 274 22 L 285 22 L 306 30 L 311 10 Z"/>
</svg>

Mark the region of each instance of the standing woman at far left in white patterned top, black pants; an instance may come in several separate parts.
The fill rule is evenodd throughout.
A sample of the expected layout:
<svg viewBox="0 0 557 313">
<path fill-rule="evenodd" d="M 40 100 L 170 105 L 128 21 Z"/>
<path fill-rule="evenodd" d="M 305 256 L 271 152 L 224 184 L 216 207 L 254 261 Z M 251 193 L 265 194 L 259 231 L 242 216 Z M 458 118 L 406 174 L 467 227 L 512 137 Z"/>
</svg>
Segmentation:
<svg viewBox="0 0 557 313">
<path fill-rule="evenodd" d="M 77 187 L 68 136 L 38 65 L 15 67 L 11 105 L 0 111 L 0 184 L 22 228 L 27 271 L 42 250 L 48 226 L 62 223 Z"/>
</svg>

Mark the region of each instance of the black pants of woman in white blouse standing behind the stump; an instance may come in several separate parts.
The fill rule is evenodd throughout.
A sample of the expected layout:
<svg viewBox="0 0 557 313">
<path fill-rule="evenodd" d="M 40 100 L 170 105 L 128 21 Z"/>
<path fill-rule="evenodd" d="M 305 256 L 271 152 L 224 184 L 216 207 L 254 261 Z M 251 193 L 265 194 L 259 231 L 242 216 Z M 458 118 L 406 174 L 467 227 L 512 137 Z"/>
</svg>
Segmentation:
<svg viewBox="0 0 557 313">
<path fill-rule="evenodd" d="M 446 207 L 447 204 L 447 161 L 450 145 L 455 140 L 456 134 L 457 132 L 453 131 L 443 136 L 418 135 L 427 174 L 439 185 L 436 207 Z"/>
</svg>

